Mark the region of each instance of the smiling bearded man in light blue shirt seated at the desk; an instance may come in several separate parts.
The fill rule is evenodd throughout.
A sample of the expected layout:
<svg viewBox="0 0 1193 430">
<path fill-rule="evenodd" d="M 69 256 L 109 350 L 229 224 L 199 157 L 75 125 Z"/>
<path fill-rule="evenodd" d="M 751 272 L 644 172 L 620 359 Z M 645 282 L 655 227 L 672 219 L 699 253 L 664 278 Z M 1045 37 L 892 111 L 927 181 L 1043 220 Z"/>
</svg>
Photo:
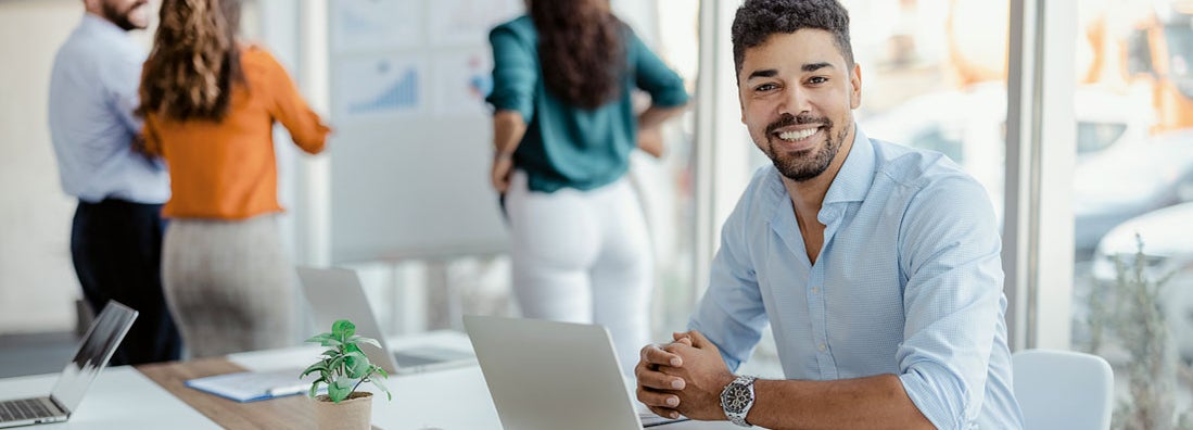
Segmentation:
<svg viewBox="0 0 1193 430">
<path fill-rule="evenodd" d="M 835 0 L 747 0 L 733 38 L 742 122 L 773 166 L 725 221 L 690 331 L 642 349 L 638 399 L 771 429 L 1021 428 L 985 191 L 857 127 Z M 767 324 L 786 379 L 735 375 Z"/>
</svg>

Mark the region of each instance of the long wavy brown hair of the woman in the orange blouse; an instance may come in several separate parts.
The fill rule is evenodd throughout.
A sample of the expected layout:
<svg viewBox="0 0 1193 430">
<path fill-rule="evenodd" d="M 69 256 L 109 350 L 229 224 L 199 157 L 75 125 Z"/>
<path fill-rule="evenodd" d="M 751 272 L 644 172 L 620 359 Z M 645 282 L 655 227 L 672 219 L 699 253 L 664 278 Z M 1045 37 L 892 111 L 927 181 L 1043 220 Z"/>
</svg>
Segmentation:
<svg viewBox="0 0 1193 430">
<path fill-rule="evenodd" d="M 245 84 L 236 48 L 240 0 L 165 0 L 141 80 L 142 116 L 223 119 Z"/>
</svg>

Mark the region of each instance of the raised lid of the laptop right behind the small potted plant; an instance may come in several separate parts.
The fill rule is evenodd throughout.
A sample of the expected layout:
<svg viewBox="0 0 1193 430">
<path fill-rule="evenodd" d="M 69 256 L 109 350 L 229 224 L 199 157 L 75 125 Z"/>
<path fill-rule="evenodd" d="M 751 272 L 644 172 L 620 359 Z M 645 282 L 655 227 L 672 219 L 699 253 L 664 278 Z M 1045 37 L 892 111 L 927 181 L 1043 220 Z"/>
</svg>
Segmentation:
<svg viewBox="0 0 1193 430">
<path fill-rule="evenodd" d="M 369 357 L 369 361 L 379 366 L 388 373 L 397 373 L 398 366 L 390 354 L 385 336 L 381 333 L 381 325 L 369 307 L 369 297 L 364 287 L 360 285 L 360 277 L 356 270 L 338 268 L 305 268 L 298 266 L 298 281 L 302 283 L 303 294 L 310 303 L 310 312 L 315 319 L 315 328 L 321 332 L 332 328 L 336 320 L 347 319 L 357 326 L 357 334 L 377 339 L 382 348 L 370 344 L 361 344 L 360 351 Z"/>
</svg>

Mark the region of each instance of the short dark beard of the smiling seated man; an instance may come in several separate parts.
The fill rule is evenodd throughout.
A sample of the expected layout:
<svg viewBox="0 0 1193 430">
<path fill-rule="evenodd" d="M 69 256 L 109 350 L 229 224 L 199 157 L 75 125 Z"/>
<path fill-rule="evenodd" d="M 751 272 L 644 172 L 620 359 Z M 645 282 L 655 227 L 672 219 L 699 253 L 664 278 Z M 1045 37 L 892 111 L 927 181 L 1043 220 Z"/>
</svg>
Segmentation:
<svg viewBox="0 0 1193 430">
<path fill-rule="evenodd" d="M 808 152 L 816 150 L 815 148 L 802 150 L 797 153 L 783 153 L 778 154 L 774 150 L 774 142 L 777 136 L 774 136 L 774 130 L 783 127 L 798 125 L 798 124 L 822 124 L 824 130 L 826 142 L 824 147 L 814 154 L 811 160 L 804 160 Z M 784 113 L 775 121 L 766 127 L 766 153 L 771 158 L 771 162 L 774 164 L 774 168 L 779 170 L 784 177 L 795 182 L 805 182 L 808 179 L 818 177 L 821 173 L 828 170 L 828 166 L 833 164 L 833 159 L 836 158 L 837 150 L 841 150 L 841 143 L 845 141 L 845 134 L 847 128 L 842 128 L 837 134 L 833 135 L 833 121 L 829 118 L 816 118 L 810 115 L 791 116 L 790 113 Z"/>
</svg>

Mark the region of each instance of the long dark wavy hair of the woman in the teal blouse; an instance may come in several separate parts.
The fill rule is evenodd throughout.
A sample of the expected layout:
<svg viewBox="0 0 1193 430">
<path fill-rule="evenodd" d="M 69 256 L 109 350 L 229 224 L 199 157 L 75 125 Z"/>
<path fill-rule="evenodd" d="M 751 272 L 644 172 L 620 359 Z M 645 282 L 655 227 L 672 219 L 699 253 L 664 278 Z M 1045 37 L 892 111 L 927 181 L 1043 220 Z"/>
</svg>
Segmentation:
<svg viewBox="0 0 1193 430">
<path fill-rule="evenodd" d="M 546 90 L 594 109 L 618 97 L 625 64 L 624 24 L 608 0 L 532 0 Z"/>
</svg>

